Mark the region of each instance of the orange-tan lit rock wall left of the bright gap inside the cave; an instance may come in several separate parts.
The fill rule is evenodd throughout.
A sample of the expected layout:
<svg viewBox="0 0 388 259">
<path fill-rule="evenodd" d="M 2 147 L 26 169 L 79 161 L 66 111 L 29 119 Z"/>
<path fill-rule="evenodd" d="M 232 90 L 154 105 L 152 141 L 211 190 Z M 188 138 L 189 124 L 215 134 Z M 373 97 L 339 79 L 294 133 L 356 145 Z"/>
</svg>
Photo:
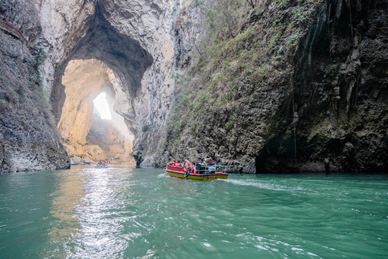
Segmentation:
<svg viewBox="0 0 388 259">
<path fill-rule="evenodd" d="M 93 100 L 100 92 L 111 92 L 109 68 L 96 59 L 70 61 L 62 84 L 63 102 L 58 130 L 68 153 L 82 156 L 86 135 L 92 126 Z"/>
</svg>

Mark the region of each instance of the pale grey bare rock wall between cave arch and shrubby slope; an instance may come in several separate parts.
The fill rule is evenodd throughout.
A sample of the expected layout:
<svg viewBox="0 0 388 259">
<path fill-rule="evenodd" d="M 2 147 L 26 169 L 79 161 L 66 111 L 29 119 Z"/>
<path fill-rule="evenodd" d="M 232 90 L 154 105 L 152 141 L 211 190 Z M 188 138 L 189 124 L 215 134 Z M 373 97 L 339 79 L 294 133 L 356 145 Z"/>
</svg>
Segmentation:
<svg viewBox="0 0 388 259">
<path fill-rule="evenodd" d="M 152 56 L 152 64 L 143 74 L 133 99 L 123 90 L 121 104 L 115 110 L 123 114 L 135 133 L 133 155 L 138 164 L 154 166 L 155 153 L 162 141 L 165 121 L 174 100 L 178 69 L 176 64 L 176 38 L 174 21 L 183 7 L 179 1 L 102 1 L 104 17 L 119 32 L 130 35 Z M 123 84 L 119 78 L 118 85 Z M 121 82 L 120 82 L 121 81 Z M 123 96 L 129 96 L 123 99 Z M 125 112 L 125 111 L 133 111 Z"/>
</svg>

